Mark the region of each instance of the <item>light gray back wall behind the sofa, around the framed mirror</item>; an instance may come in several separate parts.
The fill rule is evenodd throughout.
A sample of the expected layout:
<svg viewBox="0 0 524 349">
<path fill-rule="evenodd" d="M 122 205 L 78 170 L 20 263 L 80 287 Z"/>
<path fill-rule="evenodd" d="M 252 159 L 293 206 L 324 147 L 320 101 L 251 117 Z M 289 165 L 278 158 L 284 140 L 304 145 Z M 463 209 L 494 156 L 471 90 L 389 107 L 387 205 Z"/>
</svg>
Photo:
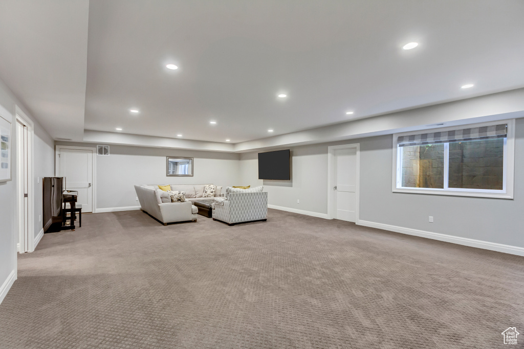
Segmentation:
<svg viewBox="0 0 524 349">
<path fill-rule="evenodd" d="M 88 143 L 57 145 L 93 147 Z M 193 157 L 192 177 L 167 177 L 166 156 Z M 136 184 L 208 184 L 239 181 L 239 154 L 111 145 L 109 156 L 96 156 L 96 209 L 139 206 Z"/>
</svg>

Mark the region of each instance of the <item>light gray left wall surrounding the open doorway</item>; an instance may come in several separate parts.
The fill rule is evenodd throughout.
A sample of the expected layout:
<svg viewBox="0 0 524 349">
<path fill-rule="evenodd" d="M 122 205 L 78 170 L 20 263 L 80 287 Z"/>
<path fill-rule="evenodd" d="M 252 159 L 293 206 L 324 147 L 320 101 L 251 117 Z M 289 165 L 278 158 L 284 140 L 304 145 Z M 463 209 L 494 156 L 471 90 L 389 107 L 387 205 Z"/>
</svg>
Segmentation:
<svg viewBox="0 0 524 349">
<path fill-rule="evenodd" d="M 37 184 L 37 177 L 52 176 L 54 173 L 54 141 L 46 130 L 31 117 L 20 101 L 13 95 L 9 87 L 0 80 L 0 114 L 12 123 L 12 176 L 13 181 L 0 183 L 0 302 L 10 287 L 12 277 L 16 277 L 16 243 L 18 243 L 16 207 L 16 114 L 15 105 L 34 122 L 34 174 L 35 208 L 34 208 L 34 237 L 42 229 L 38 221 L 42 214 L 42 186 Z"/>
</svg>

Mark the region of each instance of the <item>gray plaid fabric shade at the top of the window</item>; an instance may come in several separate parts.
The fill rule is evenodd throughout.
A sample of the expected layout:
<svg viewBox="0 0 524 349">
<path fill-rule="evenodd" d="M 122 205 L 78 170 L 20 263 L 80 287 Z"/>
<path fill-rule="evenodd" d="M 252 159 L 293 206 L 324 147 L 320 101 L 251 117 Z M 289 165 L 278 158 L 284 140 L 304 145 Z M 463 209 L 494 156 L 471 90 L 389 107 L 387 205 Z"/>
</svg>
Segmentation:
<svg viewBox="0 0 524 349">
<path fill-rule="evenodd" d="M 508 125 L 506 123 L 501 123 L 499 125 L 492 126 L 472 127 L 460 130 L 400 136 L 397 139 L 397 144 L 399 147 L 407 147 L 408 145 L 450 143 L 490 138 L 506 138 L 507 133 Z"/>
</svg>

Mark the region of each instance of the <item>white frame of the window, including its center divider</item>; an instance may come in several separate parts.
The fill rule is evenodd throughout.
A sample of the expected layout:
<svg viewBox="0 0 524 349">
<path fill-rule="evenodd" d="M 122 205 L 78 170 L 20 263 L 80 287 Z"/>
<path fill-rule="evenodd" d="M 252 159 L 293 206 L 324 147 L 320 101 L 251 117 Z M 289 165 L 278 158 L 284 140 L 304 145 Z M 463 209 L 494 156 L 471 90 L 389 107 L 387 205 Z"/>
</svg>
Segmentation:
<svg viewBox="0 0 524 349">
<path fill-rule="evenodd" d="M 462 128 L 493 126 L 500 123 L 508 125 L 507 137 L 504 139 L 504 163 L 503 163 L 503 189 L 467 189 L 467 188 L 448 188 L 449 183 L 449 143 L 444 143 L 444 188 L 411 188 L 401 187 L 401 164 L 402 151 L 397 144 L 398 137 L 410 136 L 421 132 L 443 132 L 450 130 L 460 130 Z M 514 169 L 515 169 L 515 119 L 498 120 L 490 122 L 471 123 L 466 125 L 455 125 L 450 127 L 420 129 L 417 131 L 401 132 L 393 134 L 393 163 L 392 163 L 392 183 L 391 188 L 394 193 L 411 194 L 430 194 L 430 195 L 452 195 L 486 197 L 499 199 L 513 199 Z"/>
</svg>

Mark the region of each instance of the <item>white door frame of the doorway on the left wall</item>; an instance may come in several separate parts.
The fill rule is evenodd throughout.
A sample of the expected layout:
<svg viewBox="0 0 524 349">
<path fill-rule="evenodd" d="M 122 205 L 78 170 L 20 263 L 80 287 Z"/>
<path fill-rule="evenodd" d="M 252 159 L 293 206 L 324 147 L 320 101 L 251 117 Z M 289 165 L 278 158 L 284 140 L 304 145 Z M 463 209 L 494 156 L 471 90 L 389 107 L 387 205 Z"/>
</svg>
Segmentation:
<svg viewBox="0 0 524 349">
<path fill-rule="evenodd" d="M 34 168 L 34 123 L 29 119 L 29 117 L 18 107 L 15 105 L 15 132 L 18 136 L 17 127 L 16 124 L 18 121 L 23 123 L 27 127 L 27 231 L 28 231 L 28 242 L 27 242 L 27 251 L 25 251 L 24 246 L 20 245 L 20 242 L 23 241 L 24 237 L 22 235 L 22 232 L 20 231 L 20 221 L 23 219 L 24 216 L 24 200 L 21 200 L 21 198 L 24 196 L 24 187 L 21 187 L 20 192 L 20 173 L 19 171 L 19 151 L 18 149 L 18 139 L 16 141 L 17 143 L 17 151 L 16 151 L 16 228 L 18 231 L 18 252 L 24 253 L 24 252 L 33 252 L 35 251 L 35 224 L 34 224 L 34 216 L 35 216 L 35 174 L 33 171 Z"/>
</svg>

